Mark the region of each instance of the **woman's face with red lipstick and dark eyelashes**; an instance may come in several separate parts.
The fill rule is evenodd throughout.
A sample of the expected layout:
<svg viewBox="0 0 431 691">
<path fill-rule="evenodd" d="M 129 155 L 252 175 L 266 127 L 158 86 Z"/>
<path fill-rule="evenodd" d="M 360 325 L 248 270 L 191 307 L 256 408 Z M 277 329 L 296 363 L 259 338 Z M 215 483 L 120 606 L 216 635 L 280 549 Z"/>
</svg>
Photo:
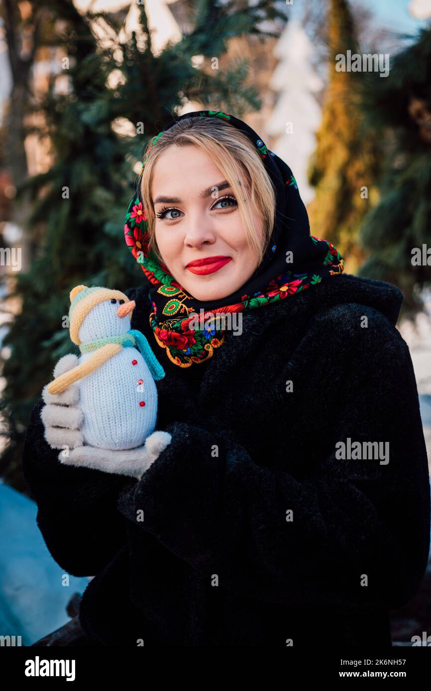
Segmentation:
<svg viewBox="0 0 431 691">
<path fill-rule="evenodd" d="M 159 252 L 187 293 L 199 301 L 217 300 L 246 283 L 257 256 L 248 247 L 232 189 L 205 152 L 169 146 L 154 166 L 152 199 Z M 262 219 L 253 223 L 263 242 Z M 190 266 L 208 258 L 212 263 Z"/>
</svg>

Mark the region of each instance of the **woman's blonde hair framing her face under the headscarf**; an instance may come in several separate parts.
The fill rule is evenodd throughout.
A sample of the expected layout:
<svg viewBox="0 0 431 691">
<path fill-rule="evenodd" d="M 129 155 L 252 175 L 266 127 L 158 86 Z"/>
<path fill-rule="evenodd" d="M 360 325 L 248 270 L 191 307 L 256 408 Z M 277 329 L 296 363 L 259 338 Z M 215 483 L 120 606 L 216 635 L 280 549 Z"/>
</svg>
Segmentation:
<svg viewBox="0 0 431 691">
<path fill-rule="evenodd" d="M 239 213 L 244 224 L 248 246 L 257 256 L 257 265 L 268 247 L 275 218 L 275 188 L 266 173 L 262 158 L 248 137 L 236 127 L 215 117 L 186 117 L 176 122 L 162 135 L 156 135 L 145 149 L 140 193 L 147 214 L 149 249 L 158 261 L 163 261 L 155 238 L 154 204 L 151 195 L 154 166 L 169 146 L 196 146 L 208 154 L 229 182 L 237 198 Z M 244 195 L 244 182 L 247 194 Z M 263 220 L 264 243 L 253 225 L 253 215 Z"/>
</svg>

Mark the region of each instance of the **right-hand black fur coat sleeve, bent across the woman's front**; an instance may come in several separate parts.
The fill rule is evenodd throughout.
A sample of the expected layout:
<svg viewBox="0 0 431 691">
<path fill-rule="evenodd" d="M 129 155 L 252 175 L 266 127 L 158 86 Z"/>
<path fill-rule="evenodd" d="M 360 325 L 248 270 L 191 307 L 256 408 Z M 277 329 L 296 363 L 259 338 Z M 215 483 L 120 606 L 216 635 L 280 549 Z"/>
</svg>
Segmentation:
<svg viewBox="0 0 431 691">
<path fill-rule="evenodd" d="M 262 435 L 280 469 L 214 420 L 174 422 L 166 428 L 171 444 L 120 494 L 119 510 L 139 530 L 239 597 L 395 609 L 423 578 L 430 483 L 410 353 L 377 310 L 349 305 L 348 319 L 346 312 L 320 312 L 308 345 L 280 361 L 279 381 L 267 383 L 279 416 Z M 364 314 L 368 325 L 360 328 Z M 306 352 L 313 357 L 304 359 Z M 282 468 L 287 379 L 308 387 L 308 397 L 328 391 L 328 408 L 318 412 L 327 421 L 318 461 L 295 459 L 302 468 L 296 477 Z M 338 458 L 336 445 L 348 439 L 383 442 L 389 461 Z"/>
</svg>

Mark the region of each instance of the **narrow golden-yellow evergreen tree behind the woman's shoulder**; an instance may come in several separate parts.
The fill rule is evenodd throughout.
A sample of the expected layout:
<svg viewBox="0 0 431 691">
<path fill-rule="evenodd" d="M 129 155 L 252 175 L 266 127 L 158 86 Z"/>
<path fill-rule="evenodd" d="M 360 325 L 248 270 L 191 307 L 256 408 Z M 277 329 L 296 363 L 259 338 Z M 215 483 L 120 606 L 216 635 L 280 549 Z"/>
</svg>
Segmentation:
<svg viewBox="0 0 431 691">
<path fill-rule="evenodd" d="M 309 180 L 315 186 L 310 225 L 315 236 L 331 239 L 344 256 L 347 271 L 354 273 L 363 259 L 358 247 L 360 222 L 375 198 L 377 155 L 372 131 L 363 126 L 365 75 L 336 70 L 337 55 L 347 55 L 347 50 L 359 53 L 347 0 L 330 2 L 328 43 L 329 83 L 309 168 Z"/>
</svg>

